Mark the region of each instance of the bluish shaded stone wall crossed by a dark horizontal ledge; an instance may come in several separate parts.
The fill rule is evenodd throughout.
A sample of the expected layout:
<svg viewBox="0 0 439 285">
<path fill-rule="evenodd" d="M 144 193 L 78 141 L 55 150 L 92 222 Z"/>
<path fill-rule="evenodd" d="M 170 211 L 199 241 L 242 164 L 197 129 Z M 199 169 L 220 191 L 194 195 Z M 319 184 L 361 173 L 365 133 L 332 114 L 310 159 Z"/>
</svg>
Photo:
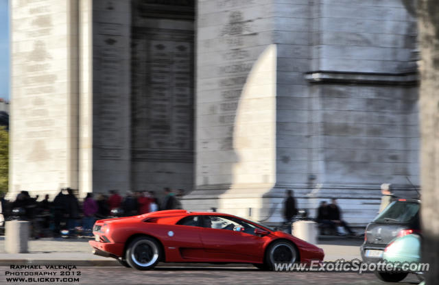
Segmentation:
<svg viewBox="0 0 439 285">
<path fill-rule="evenodd" d="M 416 196 L 419 184 L 416 18 L 401 1 L 322 0 L 313 7 L 313 134 L 319 160 L 309 197 L 340 197 L 361 225 L 379 185 Z"/>
</svg>

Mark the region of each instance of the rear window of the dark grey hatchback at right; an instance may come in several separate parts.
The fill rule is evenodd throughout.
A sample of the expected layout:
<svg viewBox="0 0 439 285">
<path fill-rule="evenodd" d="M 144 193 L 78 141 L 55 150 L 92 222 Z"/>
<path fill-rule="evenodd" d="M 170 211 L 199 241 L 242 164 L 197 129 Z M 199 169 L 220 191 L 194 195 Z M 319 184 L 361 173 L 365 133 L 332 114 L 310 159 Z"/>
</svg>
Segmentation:
<svg viewBox="0 0 439 285">
<path fill-rule="evenodd" d="M 375 222 L 407 223 L 419 212 L 419 203 L 393 201 L 376 218 Z"/>
</svg>

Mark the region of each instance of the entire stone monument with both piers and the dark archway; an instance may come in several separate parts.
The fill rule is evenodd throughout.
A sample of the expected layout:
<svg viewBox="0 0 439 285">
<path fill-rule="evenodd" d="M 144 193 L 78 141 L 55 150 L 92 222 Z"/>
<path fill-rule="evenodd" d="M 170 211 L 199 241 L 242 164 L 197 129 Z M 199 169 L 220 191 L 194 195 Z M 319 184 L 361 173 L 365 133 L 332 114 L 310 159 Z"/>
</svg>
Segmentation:
<svg viewBox="0 0 439 285">
<path fill-rule="evenodd" d="M 399 0 L 11 3 L 8 197 L 169 186 L 189 210 L 278 223 L 294 189 L 364 225 L 381 183 L 418 185 Z"/>
</svg>

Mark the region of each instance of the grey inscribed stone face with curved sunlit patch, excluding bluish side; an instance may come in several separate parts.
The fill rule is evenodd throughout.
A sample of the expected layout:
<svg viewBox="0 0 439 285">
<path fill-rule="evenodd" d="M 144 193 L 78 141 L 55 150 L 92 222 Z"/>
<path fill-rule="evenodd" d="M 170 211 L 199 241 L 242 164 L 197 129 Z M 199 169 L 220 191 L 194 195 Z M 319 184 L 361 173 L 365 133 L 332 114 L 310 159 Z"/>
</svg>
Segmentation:
<svg viewBox="0 0 439 285">
<path fill-rule="evenodd" d="M 196 190 L 185 201 L 191 209 L 246 216 L 261 208 L 259 198 L 275 182 L 270 2 L 198 1 Z"/>
</svg>

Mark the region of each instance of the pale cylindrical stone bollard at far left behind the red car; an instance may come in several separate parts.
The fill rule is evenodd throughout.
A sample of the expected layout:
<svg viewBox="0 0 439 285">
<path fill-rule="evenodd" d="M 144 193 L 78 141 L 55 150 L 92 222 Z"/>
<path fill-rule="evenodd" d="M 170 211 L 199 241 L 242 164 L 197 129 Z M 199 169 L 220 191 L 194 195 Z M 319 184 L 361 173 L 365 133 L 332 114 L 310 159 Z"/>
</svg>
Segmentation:
<svg viewBox="0 0 439 285">
<path fill-rule="evenodd" d="M 5 222 L 5 251 L 7 253 L 27 253 L 29 226 L 28 221 Z"/>
</svg>

